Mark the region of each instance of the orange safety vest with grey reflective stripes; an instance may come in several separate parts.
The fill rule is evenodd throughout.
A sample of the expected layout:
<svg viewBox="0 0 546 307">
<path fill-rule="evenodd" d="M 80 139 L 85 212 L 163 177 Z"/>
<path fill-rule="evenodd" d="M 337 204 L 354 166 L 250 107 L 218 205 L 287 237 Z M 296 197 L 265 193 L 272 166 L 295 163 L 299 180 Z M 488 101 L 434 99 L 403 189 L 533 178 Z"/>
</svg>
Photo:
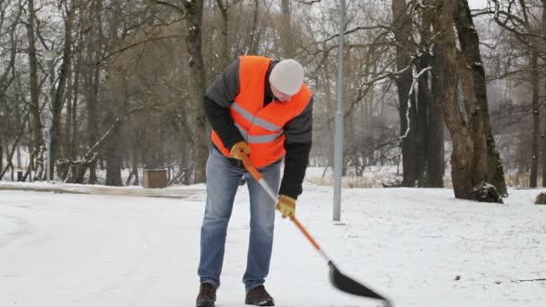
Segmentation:
<svg viewBox="0 0 546 307">
<path fill-rule="evenodd" d="M 285 155 L 283 127 L 307 107 L 313 93 L 304 84 L 290 101 L 271 101 L 264 107 L 265 77 L 271 59 L 257 56 L 239 58 L 239 94 L 230 107 L 230 114 L 235 127 L 251 146 L 252 165 L 260 168 Z M 230 149 L 225 148 L 216 131 L 212 131 L 211 138 L 220 152 L 230 157 Z"/>
</svg>

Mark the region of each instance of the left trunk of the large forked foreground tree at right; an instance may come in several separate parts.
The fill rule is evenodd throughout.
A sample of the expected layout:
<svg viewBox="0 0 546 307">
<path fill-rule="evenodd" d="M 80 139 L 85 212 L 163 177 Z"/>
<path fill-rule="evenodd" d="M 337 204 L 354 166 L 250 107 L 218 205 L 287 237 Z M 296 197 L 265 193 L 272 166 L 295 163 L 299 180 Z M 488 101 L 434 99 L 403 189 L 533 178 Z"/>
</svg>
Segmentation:
<svg viewBox="0 0 546 307">
<path fill-rule="evenodd" d="M 457 54 L 454 33 L 456 3 L 436 0 L 438 11 L 434 16 L 434 30 L 438 32 L 434 54 L 437 69 L 438 101 L 442 101 L 445 124 L 453 142 L 451 155 L 452 180 L 457 198 L 473 199 L 472 165 L 473 145 L 468 123 L 462 118 L 457 100 Z"/>
</svg>

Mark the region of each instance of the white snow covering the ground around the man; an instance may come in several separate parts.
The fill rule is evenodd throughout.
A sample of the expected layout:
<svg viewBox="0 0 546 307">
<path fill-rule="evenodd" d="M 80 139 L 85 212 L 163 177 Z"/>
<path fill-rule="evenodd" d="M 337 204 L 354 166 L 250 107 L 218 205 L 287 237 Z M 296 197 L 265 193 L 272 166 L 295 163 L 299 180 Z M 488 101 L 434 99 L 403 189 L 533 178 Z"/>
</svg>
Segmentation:
<svg viewBox="0 0 546 307">
<path fill-rule="evenodd" d="M 198 192 L 196 195 L 195 192 Z M 544 306 L 546 206 L 538 189 L 506 205 L 454 199 L 451 189 L 306 185 L 297 215 L 338 267 L 397 306 Z M 183 199 L 0 191 L 0 306 L 195 305 L 205 193 Z M 248 193 L 228 231 L 218 307 L 243 306 Z M 376 306 L 340 293 L 293 224 L 277 219 L 267 280 L 277 306 Z"/>
</svg>

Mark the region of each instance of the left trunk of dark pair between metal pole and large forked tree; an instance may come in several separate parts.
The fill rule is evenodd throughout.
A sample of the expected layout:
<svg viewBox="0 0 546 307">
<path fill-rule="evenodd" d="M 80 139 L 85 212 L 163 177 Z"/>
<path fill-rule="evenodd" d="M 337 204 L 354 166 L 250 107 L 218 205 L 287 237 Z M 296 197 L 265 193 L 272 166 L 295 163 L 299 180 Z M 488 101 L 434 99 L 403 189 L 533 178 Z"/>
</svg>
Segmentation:
<svg viewBox="0 0 546 307">
<path fill-rule="evenodd" d="M 417 108 L 415 96 L 410 96 L 413 76 L 411 72 L 410 34 L 411 20 L 405 0 L 392 0 L 394 39 L 396 40 L 396 67 L 403 73 L 396 79 L 399 114 L 401 118 L 402 186 L 415 187 L 417 180 Z"/>
</svg>

